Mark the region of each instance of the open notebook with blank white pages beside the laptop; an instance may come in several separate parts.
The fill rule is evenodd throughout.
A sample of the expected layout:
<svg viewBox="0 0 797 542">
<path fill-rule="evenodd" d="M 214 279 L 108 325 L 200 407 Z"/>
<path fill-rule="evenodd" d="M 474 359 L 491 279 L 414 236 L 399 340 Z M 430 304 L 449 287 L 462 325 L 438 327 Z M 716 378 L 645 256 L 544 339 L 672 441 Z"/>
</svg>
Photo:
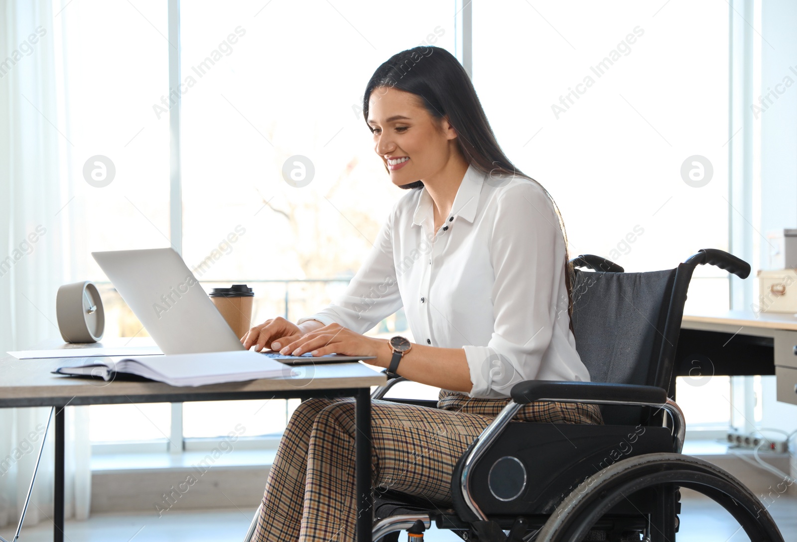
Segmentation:
<svg viewBox="0 0 797 542">
<path fill-rule="evenodd" d="M 253 350 L 146 357 L 92 357 L 86 365 L 59 367 L 53 373 L 101 377 L 143 376 L 171 386 L 203 386 L 257 378 L 289 378 L 292 369 Z"/>
</svg>

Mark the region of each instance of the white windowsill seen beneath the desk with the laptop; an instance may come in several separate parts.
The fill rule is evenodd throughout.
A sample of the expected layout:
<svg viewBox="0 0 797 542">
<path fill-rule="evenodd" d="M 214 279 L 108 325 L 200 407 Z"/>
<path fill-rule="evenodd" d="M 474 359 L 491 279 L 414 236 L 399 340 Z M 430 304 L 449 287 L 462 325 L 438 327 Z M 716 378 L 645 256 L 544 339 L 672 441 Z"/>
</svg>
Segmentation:
<svg viewBox="0 0 797 542">
<path fill-rule="evenodd" d="M 234 454 L 213 457 L 210 451 L 184 451 L 182 454 L 154 452 L 145 454 L 96 454 L 91 458 L 92 474 L 112 474 L 129 470 L 196 470 L 215 467 L 251 469 L 268 467 L 277 450 L 235 450 Z"/>
</svg>

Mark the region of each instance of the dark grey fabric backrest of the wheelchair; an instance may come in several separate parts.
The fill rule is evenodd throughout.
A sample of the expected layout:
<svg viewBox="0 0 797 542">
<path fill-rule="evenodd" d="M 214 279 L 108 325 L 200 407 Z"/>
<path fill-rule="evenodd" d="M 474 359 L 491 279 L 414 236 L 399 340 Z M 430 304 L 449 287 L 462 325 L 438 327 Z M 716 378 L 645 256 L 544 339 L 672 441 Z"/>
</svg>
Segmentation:
<svg viewBox="0 0 797 542">
<path fill-rule="evenodd" d="M 677 269 L 574 271 L 571 319 L 575 346 L 591 380 L 666 389 L 668 383 L 655 380 Z M 607 411 L 615 409 L 602 410 L 605 419 Z M 632 421 L 628 416 L 622 418 L 623 423 Z"/>
</svg>

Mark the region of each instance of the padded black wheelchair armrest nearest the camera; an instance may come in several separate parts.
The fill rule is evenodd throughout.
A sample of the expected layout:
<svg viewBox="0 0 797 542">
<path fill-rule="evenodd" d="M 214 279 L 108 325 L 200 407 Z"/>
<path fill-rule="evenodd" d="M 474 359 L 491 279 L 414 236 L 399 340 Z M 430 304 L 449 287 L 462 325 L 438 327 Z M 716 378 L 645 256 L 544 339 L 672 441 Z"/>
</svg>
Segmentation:
<svg viewBox="0 0 797 542">
<path fill-rule="evenodd" d="M 598 404 L 665 404 L 667 392 L 655 386 L 573 382 L 562 380 L 526 380 L 512 386 L 512 400 L 517 404 L 533 401 L 567 401 Z"/>
</svg>

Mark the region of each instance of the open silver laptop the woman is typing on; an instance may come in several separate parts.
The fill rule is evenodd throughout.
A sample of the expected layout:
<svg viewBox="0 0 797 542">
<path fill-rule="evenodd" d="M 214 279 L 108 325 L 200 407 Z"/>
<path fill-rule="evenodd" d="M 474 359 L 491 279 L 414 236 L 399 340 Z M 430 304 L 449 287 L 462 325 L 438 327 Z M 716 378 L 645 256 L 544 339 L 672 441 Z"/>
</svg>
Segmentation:
<svg viewBox="0 0 797 542">
<path fill-rule="evenodd" d="M 244 345 L 172 248 L 92 252 L 96 263 L 164 354 L 229 352 Z M 370 360 L 374 356 L 313 357 L 264 352 L 290 365 Z"/>
</svg>

